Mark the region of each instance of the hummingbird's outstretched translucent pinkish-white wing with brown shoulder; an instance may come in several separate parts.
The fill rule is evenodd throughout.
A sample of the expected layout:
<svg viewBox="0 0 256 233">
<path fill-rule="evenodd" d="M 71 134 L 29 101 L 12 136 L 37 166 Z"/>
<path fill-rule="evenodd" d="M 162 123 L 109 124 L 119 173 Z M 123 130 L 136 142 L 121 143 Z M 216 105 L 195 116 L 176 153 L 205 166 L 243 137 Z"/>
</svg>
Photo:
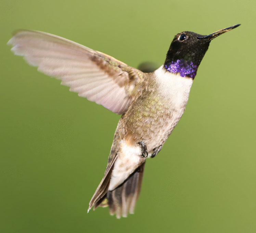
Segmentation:
<svg viewBox="0 0 256 233">
<path fill-rule="evenodd" d="M 143 72 L 111 56 L 49 33 L 20 30 L 8 45 L 38 71 L 117 114 L 126 111 L 144 79 Z"/>
</svg>

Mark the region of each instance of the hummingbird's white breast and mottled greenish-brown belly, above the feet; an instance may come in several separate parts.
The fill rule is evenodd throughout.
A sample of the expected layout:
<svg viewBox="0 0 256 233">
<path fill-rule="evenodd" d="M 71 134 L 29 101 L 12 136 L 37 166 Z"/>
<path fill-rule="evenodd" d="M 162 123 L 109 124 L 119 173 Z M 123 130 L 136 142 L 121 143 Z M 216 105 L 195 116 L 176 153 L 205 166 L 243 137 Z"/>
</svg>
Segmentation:
<svg viewBox="0 0 256 233">
<path fill-rule="evenodd" d="M 144 141 L 148 150 L 164 143 L 185 110 L 193 80 L 161 66 L 148 76 L 147 88 L 122 117 L 131 143 Z"/>
</svg>

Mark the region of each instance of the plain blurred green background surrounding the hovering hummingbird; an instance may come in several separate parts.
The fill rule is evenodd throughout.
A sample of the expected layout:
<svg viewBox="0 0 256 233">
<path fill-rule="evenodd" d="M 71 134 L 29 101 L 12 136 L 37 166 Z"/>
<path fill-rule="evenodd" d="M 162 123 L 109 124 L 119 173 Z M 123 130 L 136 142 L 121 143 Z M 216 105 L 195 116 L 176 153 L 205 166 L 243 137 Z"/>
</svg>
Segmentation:
<svg viewBox="0 0 256 233">
<path fill-rule="evenodd" d="M 255 1 L 1 0 L 0 232 L 255 233 Z M 62 36 L 133 67 L 175 34 L 209 34 L 186 111 L 147 160 L 134 215 L 87 214 L 120 116 L 29 67 L 15 29 Z"/>
</svg>

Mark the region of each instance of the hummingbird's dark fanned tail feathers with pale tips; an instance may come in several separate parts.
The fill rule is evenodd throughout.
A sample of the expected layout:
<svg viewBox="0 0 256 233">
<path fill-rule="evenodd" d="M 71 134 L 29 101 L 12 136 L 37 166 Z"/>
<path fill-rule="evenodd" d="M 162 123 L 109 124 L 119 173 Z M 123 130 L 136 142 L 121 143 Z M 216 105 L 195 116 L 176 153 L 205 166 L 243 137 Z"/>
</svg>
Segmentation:
<svg viewBox="0 0 256 233">
<path fill-rule="evenodd" d="M 110 184 L 110 178 L 114 167 L 113 165 L 115 159 L 113 159 L 113 164 L 110 165 L 100 185 L 95 191 L 90 201 L 88 212 L 90 208 L 94 205 L 93 210 L 95 210 L 98 206 L 108 206 L 110 214 L 116 214 L 117 218 L 120 218 L 121 216 L 127 217 L 128 212 L 130 214 L 134 213 L 135 205 L 140 195 L 145 162 L 142 163 L 116 189 L 114 189 L 113 191 L 108 191 L 107 189 Z"/>
</svg>

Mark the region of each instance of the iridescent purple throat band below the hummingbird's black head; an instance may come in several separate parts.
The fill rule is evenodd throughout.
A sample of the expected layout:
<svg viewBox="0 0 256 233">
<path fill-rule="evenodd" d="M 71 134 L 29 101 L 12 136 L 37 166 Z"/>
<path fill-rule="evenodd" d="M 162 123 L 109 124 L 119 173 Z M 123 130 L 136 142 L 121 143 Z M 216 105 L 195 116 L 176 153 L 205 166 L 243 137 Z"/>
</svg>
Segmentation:
<svg viewBox="0 0 256 233">
<path fill-rule="evenodd" d="M 178 59 L 177 61 L 172 61 L 165 65 L 165 68 L 171 73 L 180 73 L 181 77 L 191 77 L 194 79 L 198 69 L 198 65 L 193 64 L 191 61 L 185 61 L 183 59 Z"/>
</svg>

